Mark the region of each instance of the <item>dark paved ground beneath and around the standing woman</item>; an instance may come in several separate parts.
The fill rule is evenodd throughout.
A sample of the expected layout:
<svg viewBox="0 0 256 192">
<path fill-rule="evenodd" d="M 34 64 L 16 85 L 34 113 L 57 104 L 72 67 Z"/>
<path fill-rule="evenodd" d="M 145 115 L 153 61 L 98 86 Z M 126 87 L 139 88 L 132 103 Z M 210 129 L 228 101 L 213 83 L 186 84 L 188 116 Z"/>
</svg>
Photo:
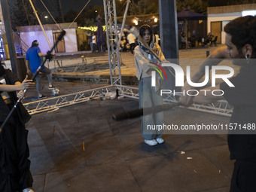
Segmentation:
<svg viewBox="0 0 256 192">
<path fill-rule="evenodd" d="M 206 50 L 181 50 L 180 56 L 205 58 Z M 90 59 L 97 62 L 105 57 Z M 135 75 L 133 56 L 122 53 L 122 59 L 127 72 Z M 53 83 L 62 94 L 102 86 L 78 81 Z M 50 96 L 46 88 L 43 92 Z M 28 95 L 25 102 L 36 99 L 35 89 Z M 133 99 L 95 100 L 33 115 L 27 129 L 35 191 L 229 191 L 233 161 L 226 135 L 168 134 L 163 136 L 163 145 L 150 147 L 143 142 L 139 118 L 111 118 L 113 113 L 138 105 Z M 228 121 L 228 117 L 184 108 L 165 114 L 166 123 L 178 126 Z"/>
</svg>

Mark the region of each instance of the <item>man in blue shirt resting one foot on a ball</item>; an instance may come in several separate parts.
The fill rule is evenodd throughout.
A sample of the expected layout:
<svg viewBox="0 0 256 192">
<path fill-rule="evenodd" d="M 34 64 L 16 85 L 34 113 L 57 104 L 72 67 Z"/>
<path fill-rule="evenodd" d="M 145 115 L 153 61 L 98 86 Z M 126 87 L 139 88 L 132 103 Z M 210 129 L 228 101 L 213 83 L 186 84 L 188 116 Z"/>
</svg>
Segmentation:
<svg viewBox="0 0 256 192">
<path fill-rule="evenodd" d="M 37 40 L 35 40 L 32 42 L 32 45 L 29 48 L 29 50 L 26 51 L 26 69 L 27 69 L 28 74 L 31 74 L 31 71 L 33 74 L 35 74 L 36 70 L 41 65 L 41 56 L 47 56 L 46 54 L 41 53 L 41 50 L 38 46 L 39 46 L 39 43 Z M 30 65 L 31 71 L 29 69 L 29 65 Z M 46 66 L 43 66 L 41 68 L 40 72 L 47 74 L 47 81 L 49 84 L 49 89 L 53 89 L 52 73 L 51 73 L 50 69 L 48 69 Z M 38 99 L 45 99 L 46 96 L 44 96 L 41 93 L 40 74 L 38 74 L 35 77 L 35 80 L 36 80 L 36 89 L 38 90 Z"/>
</svg>

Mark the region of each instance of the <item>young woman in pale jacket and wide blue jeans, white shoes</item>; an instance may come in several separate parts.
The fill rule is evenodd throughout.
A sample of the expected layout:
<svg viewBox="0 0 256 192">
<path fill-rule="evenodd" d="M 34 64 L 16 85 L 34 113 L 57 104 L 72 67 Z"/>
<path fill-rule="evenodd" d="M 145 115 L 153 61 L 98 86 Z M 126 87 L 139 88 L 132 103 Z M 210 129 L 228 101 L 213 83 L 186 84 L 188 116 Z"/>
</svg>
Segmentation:
<svg viewBox="0 0 256 192">
<path fill-rule="evenodd" d="M 153 32 L 150 26 L 141 26 L 139 29 L 139 35 L 152 48 L 152 50 L 157 53 L 157 56 L 163 60 L 163 62 L 167 62 L 163 56 L 160 46 L 153 42 Z M 139 80 L 139 107 L 152 108 L 156 105 L 163 105 L 163 97 L 160 96 L 160 84 L 158 84 L 157 87 L 151 86 L 151 72 L 154 71 L 151 66 L 154 66 L 153 63 L 157 63 L 157 59 L 140 41 L 139 45 L 135 48 L 134 53 L 136 77 Z M 157 145 L 164 142 L 162 139 L 162 130 L 148 129 L 148 126 L 152 127 L 156 125 L 163 125 L 163 112 L 143 115 L 142 136 L 145 139 L 145 143 L 148 145 Z"/>
</svg>

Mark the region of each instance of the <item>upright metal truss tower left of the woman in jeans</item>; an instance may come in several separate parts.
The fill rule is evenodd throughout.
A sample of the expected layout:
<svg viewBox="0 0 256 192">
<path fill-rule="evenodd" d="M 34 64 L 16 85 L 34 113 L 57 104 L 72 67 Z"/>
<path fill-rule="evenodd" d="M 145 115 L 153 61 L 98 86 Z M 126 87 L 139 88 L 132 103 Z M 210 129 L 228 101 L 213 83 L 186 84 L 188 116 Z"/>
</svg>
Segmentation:
<svg viewBox="0 0 256 192">
<path fill-rule="evenodd" d="M 122 84 L 115 0 L 103 0 L 111 85 Z"/>
</svg>

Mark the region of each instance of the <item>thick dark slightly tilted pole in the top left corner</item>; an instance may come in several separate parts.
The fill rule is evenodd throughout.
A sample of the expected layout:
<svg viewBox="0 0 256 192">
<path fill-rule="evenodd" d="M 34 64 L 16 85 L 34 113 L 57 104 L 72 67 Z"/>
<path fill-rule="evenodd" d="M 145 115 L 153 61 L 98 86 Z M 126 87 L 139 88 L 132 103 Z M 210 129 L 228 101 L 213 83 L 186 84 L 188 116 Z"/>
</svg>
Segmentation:
<svg viewBox="0 0 256 192">
<path fill-rule="evenodd" d="M 17 75 L 17 56 L 14 46 L 13 30 L 11 28 L 11 17 L 9 11 L 8 0 L 1 0 L 2 14 L 5 23 L 5 34 L 8 41 L 8 50 L 11 59 L 11 69 L 15 75 Z"/>
</svg>

